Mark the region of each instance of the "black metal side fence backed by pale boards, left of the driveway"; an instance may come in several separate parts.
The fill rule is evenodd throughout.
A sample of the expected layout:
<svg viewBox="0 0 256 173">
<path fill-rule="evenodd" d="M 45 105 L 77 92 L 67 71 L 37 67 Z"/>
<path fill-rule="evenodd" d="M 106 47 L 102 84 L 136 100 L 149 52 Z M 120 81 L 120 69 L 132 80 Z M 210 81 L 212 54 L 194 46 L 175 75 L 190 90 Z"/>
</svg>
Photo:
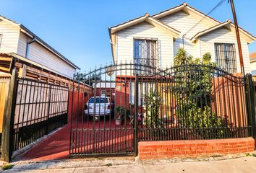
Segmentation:
<svg viewBox="0 0 256 173">
<path fill-rule="evenodd" d="M 31 79 L 18 79 L 12 151 L 67 123 L 69 89 Z"/>
</svg>

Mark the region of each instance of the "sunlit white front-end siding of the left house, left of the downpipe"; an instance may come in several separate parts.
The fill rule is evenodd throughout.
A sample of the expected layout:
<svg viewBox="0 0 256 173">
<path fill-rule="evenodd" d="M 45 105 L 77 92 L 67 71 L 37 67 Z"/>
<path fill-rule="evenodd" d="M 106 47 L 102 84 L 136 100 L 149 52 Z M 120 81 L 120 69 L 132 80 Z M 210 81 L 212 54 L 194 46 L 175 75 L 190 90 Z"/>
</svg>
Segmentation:
<svg viewBox="0 0 256 173">
<path fill-rule="evenodd" d="M 17 53 L 19 33 L 19 27 L 4 20 L 0 21 L 0 34 L 2 34 L 0 53 Z"/>
</svg>

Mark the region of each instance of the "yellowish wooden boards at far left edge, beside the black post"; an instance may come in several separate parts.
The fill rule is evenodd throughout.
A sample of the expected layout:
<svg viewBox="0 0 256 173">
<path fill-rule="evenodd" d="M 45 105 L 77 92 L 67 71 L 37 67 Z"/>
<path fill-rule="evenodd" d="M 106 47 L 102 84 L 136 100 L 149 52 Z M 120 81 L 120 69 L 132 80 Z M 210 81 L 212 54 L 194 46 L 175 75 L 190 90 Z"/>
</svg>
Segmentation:
<svg viewBox="0 0 256 173">
<path fill-rule="evenodd" d="M 9 81 L 10 77 L 0 76 L 0 133 L 2 133 L 3 131 L 4 108 L 7 102 L 7 96 L 9 92 Z"/>
</svg>

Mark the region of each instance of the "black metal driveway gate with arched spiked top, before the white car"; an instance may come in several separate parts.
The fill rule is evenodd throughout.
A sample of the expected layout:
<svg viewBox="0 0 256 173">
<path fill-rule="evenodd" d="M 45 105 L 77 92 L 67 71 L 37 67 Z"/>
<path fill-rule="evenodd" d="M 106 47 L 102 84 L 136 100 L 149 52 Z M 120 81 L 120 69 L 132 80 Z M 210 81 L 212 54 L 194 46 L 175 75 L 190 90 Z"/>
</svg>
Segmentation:
<svg viewBox="0 0 256 173">
<path fill-rule="evenodd" d="M 134 154 L 140 114 L 138 76 L 155 76 L 156 68 L 137 64 L 105 66 L 85 74 L 77 74 L 73 88 L 70 155 Z M 85 85 L 93 93 L 82 92 Z M 81 101 L 82 99 L 82 101 Z"/>
</svg>

